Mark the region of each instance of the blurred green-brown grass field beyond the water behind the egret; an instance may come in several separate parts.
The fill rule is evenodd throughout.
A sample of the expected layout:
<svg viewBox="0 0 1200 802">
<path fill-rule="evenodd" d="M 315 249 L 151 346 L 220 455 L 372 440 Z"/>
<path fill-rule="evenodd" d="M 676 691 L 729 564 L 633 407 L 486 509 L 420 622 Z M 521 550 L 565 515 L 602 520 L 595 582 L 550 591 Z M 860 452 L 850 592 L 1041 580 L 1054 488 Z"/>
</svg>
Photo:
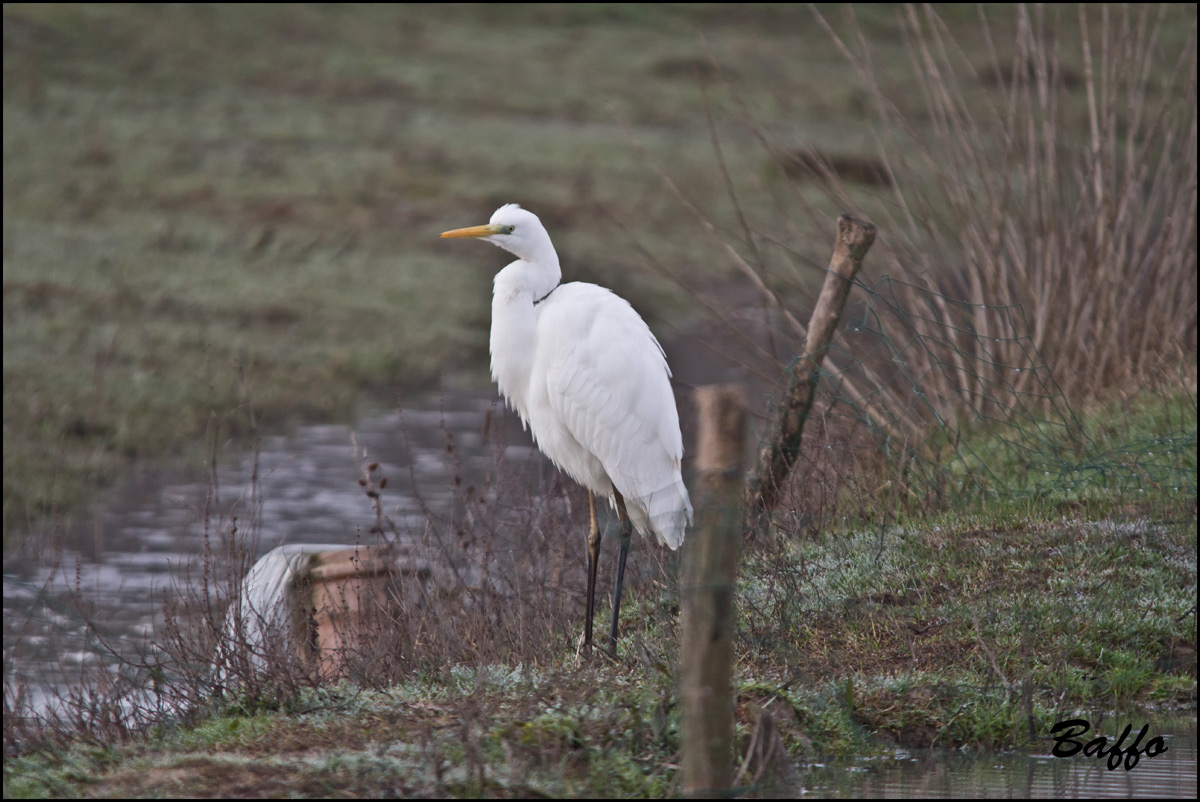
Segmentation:
<svg viewBox="0 0 1200 802">
<path fill-rule="evenodd" d="M 631 138 L 720 210 L 697 31 L 773 122 L 832 131 L 853 107 L 808 95 L 833 54 L 780 8 L 4 14 L 6 543 L 251 397 L 278 427 L 362 390 L 481 385 L 504 261 L 437 234 L 502 203 L 542 216 L 569 277 L 685 322 L 613 221 L 727 275 Z"/>
</svg>

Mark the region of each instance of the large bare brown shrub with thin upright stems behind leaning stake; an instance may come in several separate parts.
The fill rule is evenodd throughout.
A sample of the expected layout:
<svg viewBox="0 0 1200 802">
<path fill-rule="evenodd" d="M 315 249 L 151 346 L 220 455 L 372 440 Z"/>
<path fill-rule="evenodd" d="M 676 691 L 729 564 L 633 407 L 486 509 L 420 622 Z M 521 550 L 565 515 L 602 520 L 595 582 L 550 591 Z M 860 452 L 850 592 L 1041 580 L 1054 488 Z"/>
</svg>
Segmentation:
<svg viewBox="0 0 1200 802">
<path fill-rule="evenodd" d="M 997 13 L 1015 18 L 995 26 Z M 774 180 L 736 181 L 715 122 L 732 225 L 664 178 L 761 294 L 763 312 L 749 321 L 720 299 L 706 304 L 755 341 L 758 361 L 800 352 L 836 213 L 878 227 L 815 411 L 841 420 L 840 441 L 874 445 L 871 487 L 923 505 L 953 490 L 935 469 L 949 460 L 966 479 L 955 486 L 985 491 L 990 478 L 974 469 L 990 456 L 962 445 L 977 425 L 1002 432 L 1013 463 L 1054 474 L 1067 456 L 1048 432 L 1086 447 L 1073 409 L 1164 378 L 1194 383 L 1194 14 L 980 10 L 985 44 L 968 50 L 934 8 L 905 6 L 906 74 L 874 62 L 853 10 L 845 14 L 835 26 L 814 8 L 870 100 L 874 154 L 830 155 L 761 125 L 731 82 L 734 125 L 768 151 Z M 1192 36 L 1168 35 L 1181 23 Z M 864 180 L 864 163 L 876 179 Z M 742 181 L 761 191 L 755 203 L 738 196 Z M 860 461 L 829 459 L 842 466 L 829 475 Z M 821 481 L 802 490 L 836 497 Z"/>
</svg>

